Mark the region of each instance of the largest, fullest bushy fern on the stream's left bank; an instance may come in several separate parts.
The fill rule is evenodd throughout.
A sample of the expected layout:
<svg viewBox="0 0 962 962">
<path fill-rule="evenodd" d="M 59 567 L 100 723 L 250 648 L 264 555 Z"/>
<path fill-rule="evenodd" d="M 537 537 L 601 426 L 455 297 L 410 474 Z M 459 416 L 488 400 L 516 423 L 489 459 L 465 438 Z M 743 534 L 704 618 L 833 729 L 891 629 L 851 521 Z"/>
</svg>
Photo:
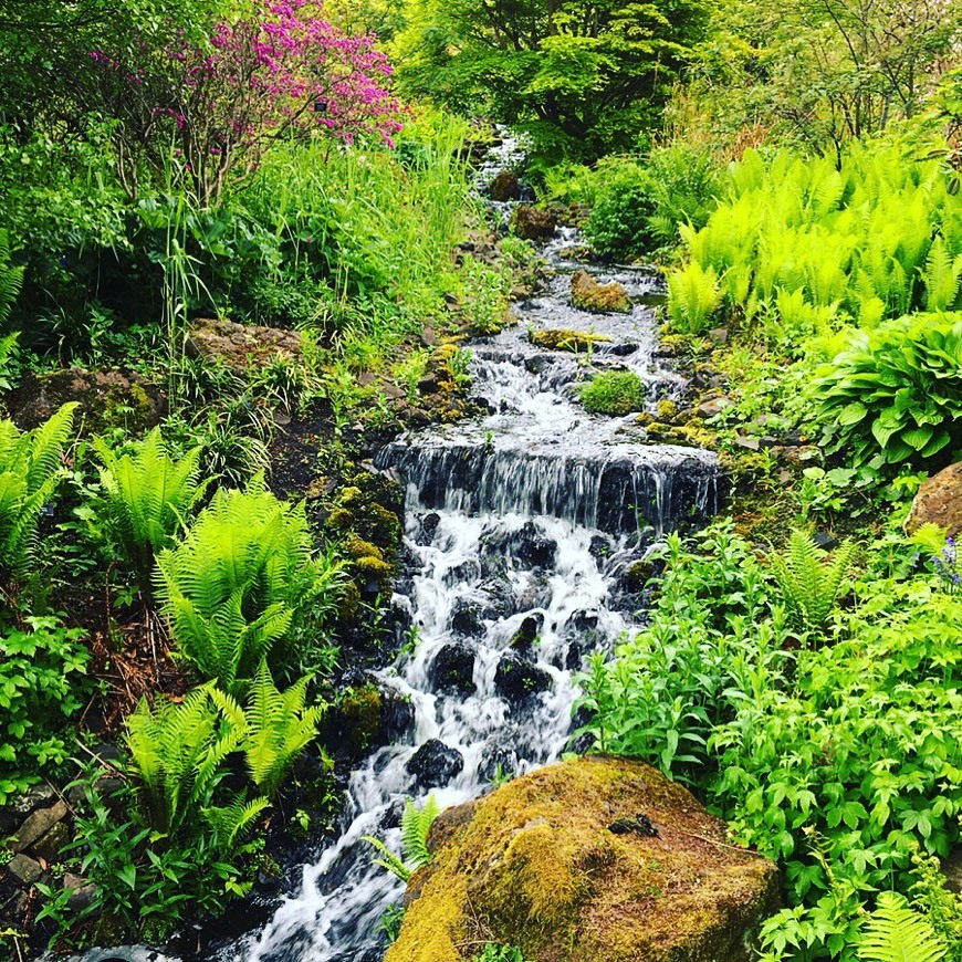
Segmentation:
<svg viewBox="0 0 962 962">
<path fill-rule="evenodd" d="M 180 652 L 231 693 L 265 657 L 295 662 L 299 652 L 285 651 L 285 642 L 309 613 L 323 620 L 338 597 L 336 564 L 312 557 L 303 505 L 279 501 L 263 478 L 244 491 L 218 491 L 157 566 L 157 594 Z"/>
</svg>

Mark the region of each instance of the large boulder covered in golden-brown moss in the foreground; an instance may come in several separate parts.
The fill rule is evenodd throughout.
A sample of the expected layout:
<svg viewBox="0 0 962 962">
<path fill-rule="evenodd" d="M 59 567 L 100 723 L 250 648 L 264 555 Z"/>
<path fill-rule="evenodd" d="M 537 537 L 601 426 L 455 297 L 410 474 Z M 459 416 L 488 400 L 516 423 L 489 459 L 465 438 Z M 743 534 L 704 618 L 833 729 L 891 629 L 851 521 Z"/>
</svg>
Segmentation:
<svg viewBox="0 0 962 962">
<path fill-rule="evenodd" d="M 747 962 L 778 907 L 773 862 L 620 759 L 525 775 L 445 813 L 431 843 L 385 962 L 461 962 L 485 940 L 531 962 Z"/>
</svg>

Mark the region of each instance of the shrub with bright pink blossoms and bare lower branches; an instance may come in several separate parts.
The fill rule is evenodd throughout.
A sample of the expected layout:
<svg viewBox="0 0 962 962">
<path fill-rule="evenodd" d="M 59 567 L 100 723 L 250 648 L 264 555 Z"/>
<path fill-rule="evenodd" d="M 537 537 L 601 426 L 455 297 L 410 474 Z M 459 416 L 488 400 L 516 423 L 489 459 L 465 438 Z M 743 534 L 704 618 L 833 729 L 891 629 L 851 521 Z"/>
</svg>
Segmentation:
<svg viewBox="0 0 962 962">
<path fill-rule="evenodd" d="M 387 57 L 374 38 L 349 36 L 320 13 L 312 0 L 263 0 L 257 17 L 218 24 L 203 46 L 180 31 L 158 50 L 93 51 L 128 192 L 140 163 L 169 167 L 171 151 L 212 205 L 282 135 L 321 129 L 349 144 L 366 134 L 393 146 L 401 108 Z"/>
</svg>

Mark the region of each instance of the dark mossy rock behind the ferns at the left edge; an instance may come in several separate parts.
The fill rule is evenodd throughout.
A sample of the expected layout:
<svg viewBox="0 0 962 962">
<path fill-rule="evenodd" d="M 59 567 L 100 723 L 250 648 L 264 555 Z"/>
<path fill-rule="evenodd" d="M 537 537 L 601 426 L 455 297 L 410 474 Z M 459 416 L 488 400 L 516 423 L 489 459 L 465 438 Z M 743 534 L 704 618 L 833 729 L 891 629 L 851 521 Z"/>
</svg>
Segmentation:
<svg viewBox="0 0 962 962">
<path fill-rule="evenodd" d="M 71 401 L 80 405 L 74 425 L 87 433 L 113 428 L 142 433 L 159 425 L 167 412 L 163 390 L 140 375 L 81 367 L 28 375 L 7 407 L 17 427 L 25 431 L 42 425 Z"/>
</svg>

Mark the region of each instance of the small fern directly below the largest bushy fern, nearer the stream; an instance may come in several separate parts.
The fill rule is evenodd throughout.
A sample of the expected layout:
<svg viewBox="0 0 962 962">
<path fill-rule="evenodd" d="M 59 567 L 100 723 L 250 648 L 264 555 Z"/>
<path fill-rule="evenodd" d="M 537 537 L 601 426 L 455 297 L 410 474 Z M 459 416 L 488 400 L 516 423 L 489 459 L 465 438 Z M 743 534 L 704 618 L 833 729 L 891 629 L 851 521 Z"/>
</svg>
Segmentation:
<svg viewBox="0 0 962 962">
<path fill-rule="evenodd" d="M 279 691 L 266 661 L 261 661 L 251 680 L 247 704 L 212 689 L 210 694 L 224 717 L 242 733 L 241 747 L 251 781 L 269 798 L 280 787 L 301 752 L 317 736 L 323 707 L 307 708 L 307 683 L 302 678 L 286 691 Z"/>
</svg>

